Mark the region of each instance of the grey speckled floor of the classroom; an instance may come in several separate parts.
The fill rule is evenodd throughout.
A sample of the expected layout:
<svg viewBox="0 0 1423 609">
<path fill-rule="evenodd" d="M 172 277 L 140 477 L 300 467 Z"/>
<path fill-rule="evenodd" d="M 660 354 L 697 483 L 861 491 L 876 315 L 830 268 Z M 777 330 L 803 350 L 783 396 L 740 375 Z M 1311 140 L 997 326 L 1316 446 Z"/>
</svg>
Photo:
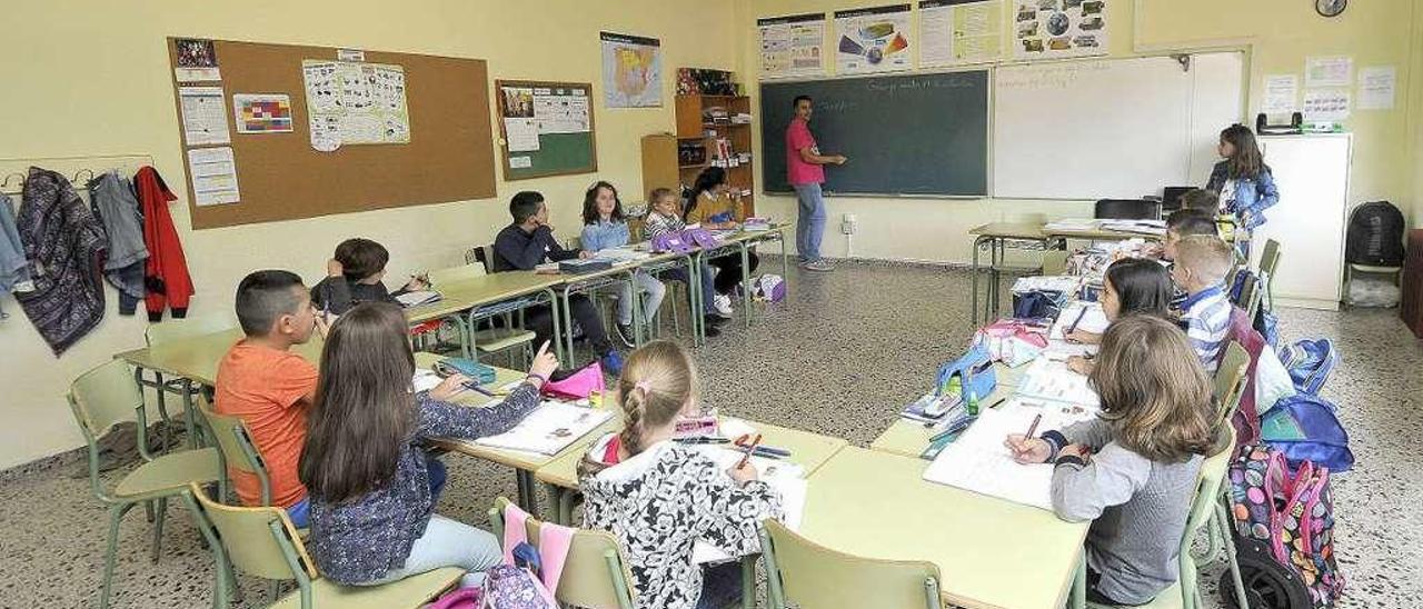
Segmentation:
<svg viewBox="0 0 1423 609">
<path fill-rule="evenodd" d="M 795 273 L 793 270 L 793 273 Z M 723 410 L 868 445 L 898 407 L 969 339 L 963 270 L 844 263 L 831 275 L 795 275 L 788 303 L 753 330 L 734 327 L 696 351 L 704 400 Z M 727 326 L 729 329 L 733 326 Z M 1333 337 L 1343 353 L 1325 397 L 1340 406 L 1358 467 L 1335 478 L 1338 552 L 1349 578 L 1342 608 L 1423 606 L 1423 341 L 1395 310 L 1281 310 L 1285 339 Z M 514 477 L 482 461 L 450 457 L 441 512 L 485 524 Z M 102 565 L 104 511 L 68 467 L 0 485 L 0 606 L 92 606 Z M 115 576 L 117 608 L 208 606 L 212 561 L 171 508 L 165 551 L 148 561 L 142 512 L 125 519 Z M 1207 605 L 1220 566 L 1202 576 Z M 262 582 L 243 578 L 248 606 Z"/>
</svg>

